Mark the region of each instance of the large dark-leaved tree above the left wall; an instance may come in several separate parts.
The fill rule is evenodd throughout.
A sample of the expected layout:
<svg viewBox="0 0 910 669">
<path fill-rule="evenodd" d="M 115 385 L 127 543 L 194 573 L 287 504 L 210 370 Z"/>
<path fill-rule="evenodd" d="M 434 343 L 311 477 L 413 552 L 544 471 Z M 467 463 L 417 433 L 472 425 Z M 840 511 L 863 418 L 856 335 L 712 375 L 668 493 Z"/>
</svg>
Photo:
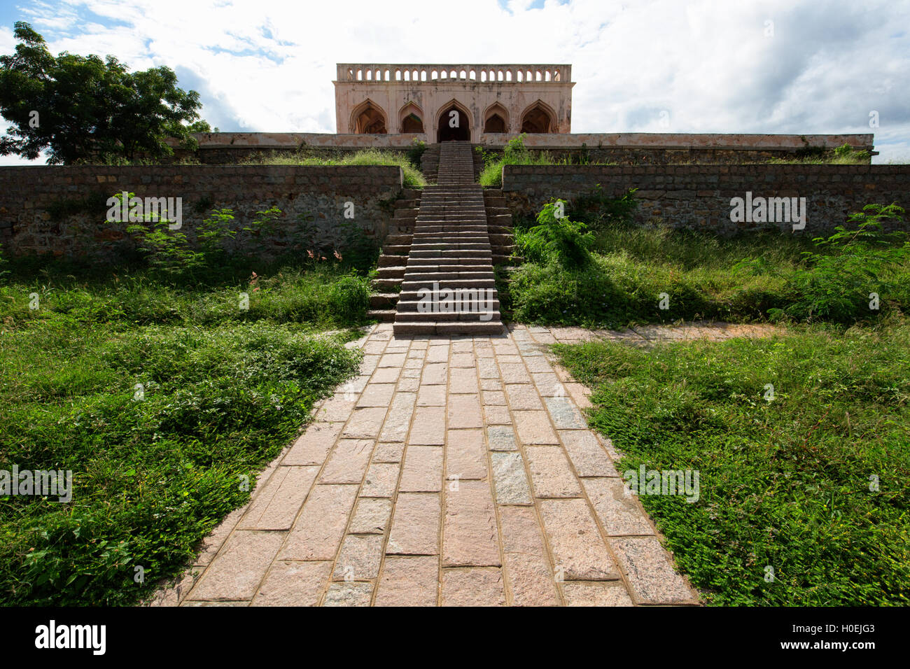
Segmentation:
<svg viewBox="0 0 910 669">
<path fill-rule="evenodd" d="M 186 141 L 199 118 L 196 91 L 177 87 L 169 67 L 129 72 L 114 56 L 52 56 L 31 25 L 15 24 L 19 44 L 0 56 L 0 116 L 13 125 L 0 155 L 50 164 L 112 162 L 173 153 L 168 137 Z"/>
</svg>

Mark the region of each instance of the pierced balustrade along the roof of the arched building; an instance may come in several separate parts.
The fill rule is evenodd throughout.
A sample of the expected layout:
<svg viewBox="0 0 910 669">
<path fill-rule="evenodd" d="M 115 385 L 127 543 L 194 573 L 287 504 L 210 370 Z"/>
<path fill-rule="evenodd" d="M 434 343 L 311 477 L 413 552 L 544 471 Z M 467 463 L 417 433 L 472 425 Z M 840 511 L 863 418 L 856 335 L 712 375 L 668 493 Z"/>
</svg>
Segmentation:
<svg viewBox="0 0 910 669">
<path fill-rule="evenodd" d="M 571 82 L 571 65 L 410 65 L 339 63 L 338 81 L 479 81 L 495 83 Z"/>
</svg>

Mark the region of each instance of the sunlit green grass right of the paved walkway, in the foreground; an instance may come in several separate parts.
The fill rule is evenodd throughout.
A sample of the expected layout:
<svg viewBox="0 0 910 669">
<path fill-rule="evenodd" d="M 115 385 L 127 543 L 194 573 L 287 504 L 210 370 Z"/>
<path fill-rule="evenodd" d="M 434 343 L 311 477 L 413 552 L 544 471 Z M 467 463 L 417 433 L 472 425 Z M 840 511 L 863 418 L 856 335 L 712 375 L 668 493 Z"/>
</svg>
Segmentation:
<svg viewBox="0 0 910 669">
<path fill-rule="evenodd" d="M 906 320 L 555 348 L 593 389 L 591 425 L 624 453 L 621 472 L 700 471 L 695 503 L 640 500 L 708 603 L 908 603 Z"/>
</svg>

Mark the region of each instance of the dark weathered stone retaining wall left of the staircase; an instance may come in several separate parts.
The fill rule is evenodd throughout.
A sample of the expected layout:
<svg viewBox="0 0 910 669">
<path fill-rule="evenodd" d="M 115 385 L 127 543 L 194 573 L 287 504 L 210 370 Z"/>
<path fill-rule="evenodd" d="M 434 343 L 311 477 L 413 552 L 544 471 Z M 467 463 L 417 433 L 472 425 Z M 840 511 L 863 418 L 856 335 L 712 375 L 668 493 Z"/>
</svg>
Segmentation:
<svg viewBox="0 0 910 669">
<path fill-rule="evenodd" d="M 278 207 L 284 216 L 270 247 L 275 253 L 304 252 L 297 248 L 301 239 L 288 233 L 297 217 L 311 217 L 320 237 L 332 240 L 350 223 L 346 202 L 354 203 L 354 223 L 381 241 L 390 201 L 401 191 L 401 168 L 0 167 L 0 242 L 13 255 L 114 258 L 133 247 L 126 225 L 105 220 L 106 198 L 122 191 L 182 198 L 181 229 L 191 239 L 194 223 L 211 208 L 233 208 L 241 228 L 257 211 Z"/>
</svg>

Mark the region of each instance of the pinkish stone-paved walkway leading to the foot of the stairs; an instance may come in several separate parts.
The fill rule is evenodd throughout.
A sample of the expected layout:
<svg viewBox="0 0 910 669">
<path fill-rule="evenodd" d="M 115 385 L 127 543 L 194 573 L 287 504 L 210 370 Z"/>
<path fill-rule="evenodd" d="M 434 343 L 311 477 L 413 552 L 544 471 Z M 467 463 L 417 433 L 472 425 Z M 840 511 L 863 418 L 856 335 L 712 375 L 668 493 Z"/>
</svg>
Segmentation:
<svg viewBox="0 0 910 669">
<path fill-rule="evenodd" d="M 612 444 L 588 430 L 586 389 L 545 354 L 591 336 L 519 325 L 412 339 L 373 327 L 351 342 L 365 353 L 360 376 L 153 603 L 697 603 L 623 495 Z"/>
</svg>

